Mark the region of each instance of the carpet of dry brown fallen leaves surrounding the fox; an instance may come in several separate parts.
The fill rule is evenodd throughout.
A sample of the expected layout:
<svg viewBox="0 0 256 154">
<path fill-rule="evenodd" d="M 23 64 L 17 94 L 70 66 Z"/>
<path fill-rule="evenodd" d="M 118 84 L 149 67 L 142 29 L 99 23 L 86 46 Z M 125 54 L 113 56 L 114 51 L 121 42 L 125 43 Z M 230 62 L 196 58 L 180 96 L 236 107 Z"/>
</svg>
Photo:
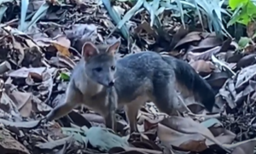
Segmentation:
<svg viewBox="0 0 256 154">
<path fill-rule="evenodd" d="M 113 9 L 119 14 L 115 17 L 106 0 L 33 1 L 28 6 L 26 3 L 13 3 L 12 7 L 21 7 L 21 11 L 32 14 L 30 17 L 21 14 L 19 25 L 15 15 L 6 14 L 2 18 L 6 24 L 0 27 L 3 153 L 253 154 L 253 25 L 247 27 L 249 37 L 241 37 L 236 43 L 230 38 L 222 41 L 214 32 L 184 28 L 183 21 L 174 22 L 168 15 L 154 18 L 152 12 L 147 12 L 152 5 L 144 1 L 137 2 L 138 8 L 145 7 L 140 11 L 131 9 L 130 2 L 116 2 Z M 158 9 L 157 5 L 152 9 Z M 157 28 L 158 20 L 165 27 L 163 30 Z M 118 21 L 120 31 L 115 27 Z M 137 41 L 127 37 L 127 32 Z M 113 132 L 105 128 L 101 116 L 79 106 L 66 117 L 38 128 L 39 119 L 63 102 L 83 43 L 113 43 L 121 34 L 125 43 L 119 57 L 148 49 L 188 61 L 216 92 L 213 112 L 207 113 L 198 102 L 187 100 L 185 103 L 195 115 L 166 117 L 152 102 L 147 102 L 137 117 L 141 133 L 130 135 L 123 109 L 116 113 L 118 132 Z"/>
</svg>

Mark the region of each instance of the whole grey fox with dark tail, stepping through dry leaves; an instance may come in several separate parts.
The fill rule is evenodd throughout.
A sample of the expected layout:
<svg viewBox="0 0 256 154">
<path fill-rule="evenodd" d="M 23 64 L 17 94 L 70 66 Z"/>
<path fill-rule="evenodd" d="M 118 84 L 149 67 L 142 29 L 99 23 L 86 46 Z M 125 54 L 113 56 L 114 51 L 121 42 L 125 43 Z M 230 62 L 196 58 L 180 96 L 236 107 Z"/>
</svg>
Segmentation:
<svg viewBox="0 0 256 154">
<path fill-rule="evenodd" d="M 131 132 L 137 131 L 137 113 L 148 100 L 160 111 L 172 115 L 179 110 L 177 91 L 194 94 L 207 110 L 215 103 L 211 86 L 182 60 L 152 51 L 126 55 L 115 60 L 120 41 L 99 49 L 84 43 L 82 59 L 74 68 L 67 87 L 66 100 L 46 116 L 48 121 L 66 115 L 75 106 L 84 105 L 105 117 L 113 128 L 114 111 L 125 106 Z"/>
</svg>

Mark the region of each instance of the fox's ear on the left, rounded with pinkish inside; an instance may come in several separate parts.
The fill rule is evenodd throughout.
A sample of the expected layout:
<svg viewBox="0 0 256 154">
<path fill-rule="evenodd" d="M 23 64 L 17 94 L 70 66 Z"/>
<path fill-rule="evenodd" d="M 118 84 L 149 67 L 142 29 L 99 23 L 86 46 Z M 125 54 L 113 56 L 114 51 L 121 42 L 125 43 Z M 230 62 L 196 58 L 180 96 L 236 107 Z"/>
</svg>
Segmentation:
<svg viewBox="0 0 256 154">
<path fill-rule="evenodd" d="M 91 42 L 84 43 L 83 48 L 82 48 L 82 55 L 85 60 L 87 60 L 88 58 L 90 58 L 96 54 L 99 54 L 99 51 L 93 43 L 91 43 Z"/>
</svg>

